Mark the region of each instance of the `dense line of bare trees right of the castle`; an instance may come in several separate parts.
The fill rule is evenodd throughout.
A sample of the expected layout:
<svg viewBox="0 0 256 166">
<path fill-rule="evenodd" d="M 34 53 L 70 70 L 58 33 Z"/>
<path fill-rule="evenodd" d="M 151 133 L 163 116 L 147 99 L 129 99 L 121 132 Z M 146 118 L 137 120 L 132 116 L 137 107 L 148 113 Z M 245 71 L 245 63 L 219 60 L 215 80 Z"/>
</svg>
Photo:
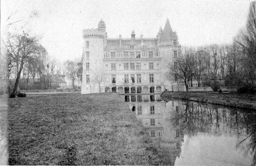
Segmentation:
<svg viewBox="0 0 256 166">
<path fill-rule="evenodd" d="M 256 3 L 250 3 L 247 25 L 234 37 L 233 44 L 183 48 L 170 66 L 170 75 L 184 82 L 187 91 L 196 80 L 198 86 L 214 90 L 222 85 L 255 93 Z"/>
</svg>

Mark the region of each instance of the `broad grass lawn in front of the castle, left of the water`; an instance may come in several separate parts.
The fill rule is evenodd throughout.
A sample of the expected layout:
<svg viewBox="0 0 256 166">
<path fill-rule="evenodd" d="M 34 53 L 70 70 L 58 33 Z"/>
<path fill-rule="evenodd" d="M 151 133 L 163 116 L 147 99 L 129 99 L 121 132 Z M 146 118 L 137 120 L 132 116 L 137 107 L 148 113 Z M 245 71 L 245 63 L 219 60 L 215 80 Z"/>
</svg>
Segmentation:
<svg viewBox="0 0 256 166">
<path fill-rule="evenodd" d="M 10 165 L 145 165 L 161 160 L 117 94 L 9 98 Z"/>
</svg>

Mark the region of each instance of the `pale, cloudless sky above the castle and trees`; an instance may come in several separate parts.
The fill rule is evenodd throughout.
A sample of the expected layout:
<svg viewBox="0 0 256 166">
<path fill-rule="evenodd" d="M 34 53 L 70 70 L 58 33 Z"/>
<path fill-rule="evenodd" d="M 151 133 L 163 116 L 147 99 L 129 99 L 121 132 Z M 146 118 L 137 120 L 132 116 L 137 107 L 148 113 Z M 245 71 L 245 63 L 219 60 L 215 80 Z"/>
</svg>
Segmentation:
<svg viewBox="0 0 256 166">
<path fill-rule="evenodd" d="M 7 24 L 25 24 L 42 37 L 49 56 L 58 61 L 82 57 L 82 29 L 102 19 L 108 38 L 156 37 L 169 18 L 181 46 L 230 44 L 245 26 L 250 1 L 7 1 L 1 0 L 1 38 Z M 11 19 L 7 21 L 7 18 Z"/>
</svg>

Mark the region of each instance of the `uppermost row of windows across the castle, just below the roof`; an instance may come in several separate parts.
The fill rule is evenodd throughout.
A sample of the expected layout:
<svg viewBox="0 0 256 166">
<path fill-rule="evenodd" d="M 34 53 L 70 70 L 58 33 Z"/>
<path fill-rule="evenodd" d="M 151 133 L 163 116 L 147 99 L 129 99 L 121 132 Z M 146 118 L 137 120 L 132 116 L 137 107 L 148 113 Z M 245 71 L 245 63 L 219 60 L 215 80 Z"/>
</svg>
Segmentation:
<svg viewBox="0 0 256 166">
<path fill-rule="evenodd" d="M 128 52 L 124 52 L 124 58 L 134 58 L 134 52 L 129 52 L 130 56 L 128 54 Z M 90 57 L 90 52 L 86 51 L 86 58 Z M 143 57 L 147 57 L 147 52 L 146 53 L 142 53 Z M 115 59 L 116 58 L 116 53 L 115 52 L 111 52 L 111 59 Z M 117 53 L 117 56 L 119 58 L 123 57 L 123 53 L 119 52 Z M 158 58 L 160 57 L 160 52 L 155 52 L 155 57 Z M 109 58 L 109 53 L 104 53 L 104 58 Z M 141 58 L 141 53 L 140 52 L 136 52 L 136 58 Z M 149 52 L 149 58 L 153 58 L 153 52 Z M 174 51 L 174 58 L 177 58 L 177 51 Z"/>
</svg>

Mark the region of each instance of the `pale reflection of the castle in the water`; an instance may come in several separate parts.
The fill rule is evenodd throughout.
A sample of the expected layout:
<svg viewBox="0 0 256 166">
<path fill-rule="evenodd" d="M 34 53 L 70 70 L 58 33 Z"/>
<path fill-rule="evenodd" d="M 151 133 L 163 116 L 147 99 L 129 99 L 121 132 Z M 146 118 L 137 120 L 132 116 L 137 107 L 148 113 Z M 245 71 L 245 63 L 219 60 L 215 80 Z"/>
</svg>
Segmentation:
<svg viewBox="0 0 256 166">
<path fill-rule="evenodd" d="M 125 102 L 129 102 L 131 111 L 136 114 L 150 139 L 168 152 L 169 159 L 165 164 L 174 165 L 176 157 L 180 157 L 184 140 L 179 127 L 182 120 L 179 118 L 179 111 L 183 104 L 174 100 L 166 103 L 161 99 L 161 94 L 132 94 L 122 97 Z"/>
</svg>

